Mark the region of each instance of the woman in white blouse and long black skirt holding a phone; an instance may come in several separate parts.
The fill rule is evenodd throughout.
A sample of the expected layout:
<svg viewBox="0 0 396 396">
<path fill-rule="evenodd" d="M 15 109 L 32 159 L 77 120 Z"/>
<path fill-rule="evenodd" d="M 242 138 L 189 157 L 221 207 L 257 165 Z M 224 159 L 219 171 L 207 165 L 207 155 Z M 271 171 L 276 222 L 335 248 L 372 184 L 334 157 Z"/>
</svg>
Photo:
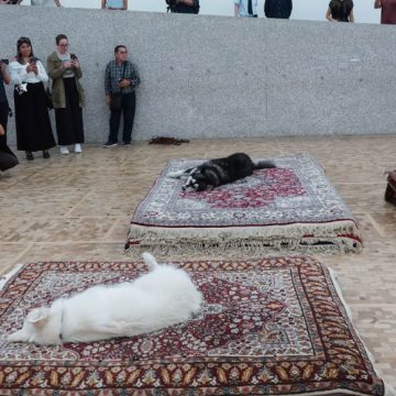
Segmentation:
<svg viewBox="0 0 396 396">
<path fill-rule="evenodd" d="M 28 161 L 34 160 L 33 152 L 36 151 L 43 151 L 43 158 L 50 158 L 48 148 L 56 143 L 43 85 L 48 81 L 48 76 L 34 56 L 29 37 L 18 40 L 16 57 L 10 63 L 9 72 L 15 85 L 16 147 L 25 151 Z"/>
</svg>

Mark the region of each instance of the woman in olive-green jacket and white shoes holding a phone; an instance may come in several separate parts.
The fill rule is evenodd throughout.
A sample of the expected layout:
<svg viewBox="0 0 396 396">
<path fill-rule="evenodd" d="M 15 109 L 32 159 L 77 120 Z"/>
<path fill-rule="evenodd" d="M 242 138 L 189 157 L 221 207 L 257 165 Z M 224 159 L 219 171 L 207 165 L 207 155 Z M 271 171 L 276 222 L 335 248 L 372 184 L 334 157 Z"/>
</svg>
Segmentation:
<svg viewBox="0 0 396 396">
<path fill-rule="evenodd" d="M 53 80 L 52 95 L 61 154 L 69 154 L 68 145 L 74 145 L 74 152 L 80 154 L 85 96 L 79 79 L 82 70 L 77 56 L 68 51 L 67 36 L 58 34 L 55 43 L 56 51 L 47 57 L 47 68 Z"/>
</svg>

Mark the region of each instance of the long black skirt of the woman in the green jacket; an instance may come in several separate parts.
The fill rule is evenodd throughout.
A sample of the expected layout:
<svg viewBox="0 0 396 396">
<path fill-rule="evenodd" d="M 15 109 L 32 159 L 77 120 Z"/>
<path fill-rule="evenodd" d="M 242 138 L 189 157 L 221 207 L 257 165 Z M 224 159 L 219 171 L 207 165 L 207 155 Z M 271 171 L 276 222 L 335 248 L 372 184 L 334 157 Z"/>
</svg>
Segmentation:
<svg viewBox="0 0 396 396">
<path fill-rule="evenodd" d="M 56 133 L 59 145 L 84 143 L 82 109 L 75 78 L 64 78 L 65 109 L 55 109 Z"/>
</svg>

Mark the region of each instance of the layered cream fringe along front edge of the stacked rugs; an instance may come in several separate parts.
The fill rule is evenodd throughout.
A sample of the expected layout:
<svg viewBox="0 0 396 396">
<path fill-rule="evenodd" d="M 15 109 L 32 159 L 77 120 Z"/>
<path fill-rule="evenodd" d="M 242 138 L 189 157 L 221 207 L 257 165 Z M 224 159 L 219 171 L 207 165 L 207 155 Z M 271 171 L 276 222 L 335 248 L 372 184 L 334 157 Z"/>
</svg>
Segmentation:
<svg viewBox="0 0 396 396">
<path fill-rule="evenodd" d="M 158 256 L 222 255 L 258 257 L 268 252 L 352 253 L 363 248 L 352 220 L 329 224 L 296 223 L 268 227 L 152 228 L 131 224 L 127 253 L 140 256 L 150 251 Z"/>
</svg>

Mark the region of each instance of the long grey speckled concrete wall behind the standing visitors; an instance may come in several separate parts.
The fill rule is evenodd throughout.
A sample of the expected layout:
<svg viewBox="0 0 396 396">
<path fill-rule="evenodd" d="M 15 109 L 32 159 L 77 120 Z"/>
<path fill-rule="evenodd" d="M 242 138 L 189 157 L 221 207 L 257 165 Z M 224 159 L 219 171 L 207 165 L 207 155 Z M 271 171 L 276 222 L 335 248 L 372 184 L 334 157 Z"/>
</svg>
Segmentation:
<svg viewBox="0 0 396 396">
<path fill-rule="evenodd" d="M 394 26 L 11 6 L 0 26 L 1 57 L 28 35 L 45 59 L 68 35 L 87 142 L 107 138 L 103 72 L 120 43 L 142 78 L 136 141 L 396 133 Z"/>
</svg>

